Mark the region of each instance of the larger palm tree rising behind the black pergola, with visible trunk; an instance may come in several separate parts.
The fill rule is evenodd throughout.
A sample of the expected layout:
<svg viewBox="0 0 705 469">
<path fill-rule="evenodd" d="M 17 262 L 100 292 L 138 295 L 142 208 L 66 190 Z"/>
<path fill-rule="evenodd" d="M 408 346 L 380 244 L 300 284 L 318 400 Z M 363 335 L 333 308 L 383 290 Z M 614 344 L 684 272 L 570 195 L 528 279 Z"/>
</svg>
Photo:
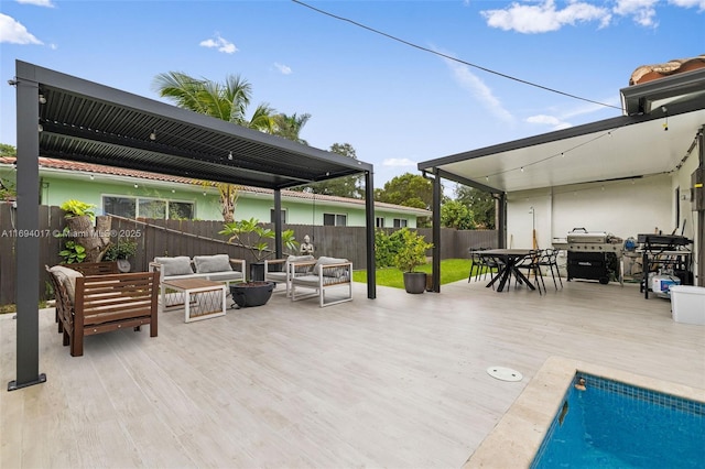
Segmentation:
<svg viewBox="0 0 705 469">
<path fill-rule="evenodd" d="M 194 78 L 183 72 L 169 72 L 156 75 L 152 87 L 161 97 L 170 99 L 180 108 L 261 132 L 274 133 L 276 129 L 276 111 L 268 103 L 259 105 L 250 120 L 246 118 L 252 86 L 239 75 L 228 75 L 225 83 L 220 84 L 205 78 Z M 239 186 L 216 183 L 216 187 L 220 194 L 223 219 L 232 222 Z"/>
</svg>

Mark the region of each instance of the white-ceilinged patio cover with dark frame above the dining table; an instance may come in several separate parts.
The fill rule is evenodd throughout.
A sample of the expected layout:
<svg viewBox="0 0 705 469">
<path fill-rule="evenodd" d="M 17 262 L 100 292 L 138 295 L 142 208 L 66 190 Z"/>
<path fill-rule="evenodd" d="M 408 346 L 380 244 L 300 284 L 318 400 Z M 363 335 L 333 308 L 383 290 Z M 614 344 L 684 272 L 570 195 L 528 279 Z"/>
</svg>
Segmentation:
<svg viewBox="0 0 705 469">
<path fill-rule="evenodd" d="M 670 173 L 698 141 L 699 155 L 690 157 L 699 157 L 703 166 L 705 68 L 622 88 L 620 94 L 623 116 L 419 163 L 419 171 L 435 181 L 434 227 L 440 223 L 441 178 L 496 195 L 501 204 L 501 247 L 508 193 Z M 699 217 L 703 227 L 705 217 Z M 440 229 L 436 234 L 434 228 L 436 292 L 440 241 Z M 703 252 L 699 259 L 702 265 Z"/>
</svg>

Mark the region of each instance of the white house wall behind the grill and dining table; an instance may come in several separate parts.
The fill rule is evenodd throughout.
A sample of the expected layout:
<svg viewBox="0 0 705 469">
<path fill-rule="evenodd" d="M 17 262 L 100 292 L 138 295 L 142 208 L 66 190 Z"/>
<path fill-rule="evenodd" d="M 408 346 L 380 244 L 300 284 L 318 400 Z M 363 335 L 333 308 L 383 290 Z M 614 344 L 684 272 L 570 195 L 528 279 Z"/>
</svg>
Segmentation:
<svg viewBox="0 0 705 469">
<path fill-rule="evenodd" d="M 539 248 L 565 239 L 573 228 L 607 231 L 622 239 L 658 230 L 671 233 L 676 227 L 674 206 L 668 174 L 512 193 L 508 195 L 507 246 L 530 248 L 532 226 Z"/>
</svg>

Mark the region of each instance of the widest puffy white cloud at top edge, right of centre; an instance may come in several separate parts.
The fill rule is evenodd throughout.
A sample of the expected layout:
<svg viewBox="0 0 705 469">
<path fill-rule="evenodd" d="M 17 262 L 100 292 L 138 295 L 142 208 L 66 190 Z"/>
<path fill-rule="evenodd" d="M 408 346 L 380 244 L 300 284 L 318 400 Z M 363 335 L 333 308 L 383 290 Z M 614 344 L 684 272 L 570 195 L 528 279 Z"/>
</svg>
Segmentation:
<svg viewBox="0 0 705 469">
<path fill-rule="evenodd" d="M 553 0 L 540 4 L 512 3 L 505 10 L 485 10 L 480 14 L 491 28 L 524 34 L 557 31 L 566 24 L 590 21 L 598 21 L 604 28 L 611 20 L 608 9 L 579 1 L 568 2 L 562 10 L 556 9 Z"/>
</svg>

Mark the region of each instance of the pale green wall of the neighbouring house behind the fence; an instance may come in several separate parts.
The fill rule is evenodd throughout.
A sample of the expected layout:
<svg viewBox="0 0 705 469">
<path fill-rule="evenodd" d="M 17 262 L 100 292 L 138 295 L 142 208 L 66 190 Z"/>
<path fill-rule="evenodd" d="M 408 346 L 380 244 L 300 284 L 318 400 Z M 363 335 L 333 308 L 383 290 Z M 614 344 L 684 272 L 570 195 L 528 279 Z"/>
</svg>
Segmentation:
<svg viewBox="0 0 705 469">
<path fill-rule="evenodd" d="M 68 199 L 78 199 L 98 207 L 100 214 L 102 196 L 130 196 L 143 198 L 170 199 L 193 203 L 195 218 L 200 220 L 221 220 L 218 194 L 214 188 L 193 187 L 184 184 L 124 178 L 115 181 L 100 175 L 90 179 L 87 173 L 67 175 L 65 173 L 47 173 L 42 175 L 41 204 L 61 206 Z M 138 187 L 134 187 L 137 184 Z M 204 195 L 205 193 L 205 195 Z M 270 210 L 274 208 L 274 199 L 269 194 L 241 192 L 236 208 L 236 219 L 257 218 L 270 221 Z M 345 215 L 347 226 L 364 227 L 365 204 L 330 204 L 323 199 L 296 199 L 282 197 L 282 209 L 286 210 L 286 222 L 292 225 L 323 225 L 324 214 Z M 393 227 L 393 219 L 408 221 L 410 228 L 416 228 L 416 216 L 410 212 L 379 210 L 376 217 L 384 218 L 386 227 Z"/>
</svg>

